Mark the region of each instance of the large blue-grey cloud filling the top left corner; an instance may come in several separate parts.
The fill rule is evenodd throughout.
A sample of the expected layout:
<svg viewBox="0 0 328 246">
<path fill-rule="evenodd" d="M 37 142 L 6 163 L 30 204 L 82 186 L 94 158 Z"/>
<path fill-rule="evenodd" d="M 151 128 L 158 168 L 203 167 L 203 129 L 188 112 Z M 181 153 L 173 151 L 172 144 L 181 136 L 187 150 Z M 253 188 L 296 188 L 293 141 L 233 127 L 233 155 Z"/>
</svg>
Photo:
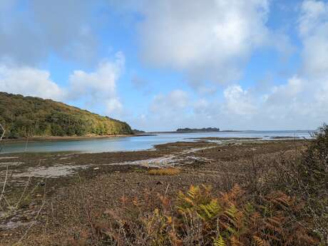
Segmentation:
<svg viewBox="0 0 328 246">
<path fill-rule="evenodd" d="M 0 60 L 34 66 L 51 53 L 78 61 L 96 55 L 91 6 L 78 0 L 0 3 Z"/>
</svg>

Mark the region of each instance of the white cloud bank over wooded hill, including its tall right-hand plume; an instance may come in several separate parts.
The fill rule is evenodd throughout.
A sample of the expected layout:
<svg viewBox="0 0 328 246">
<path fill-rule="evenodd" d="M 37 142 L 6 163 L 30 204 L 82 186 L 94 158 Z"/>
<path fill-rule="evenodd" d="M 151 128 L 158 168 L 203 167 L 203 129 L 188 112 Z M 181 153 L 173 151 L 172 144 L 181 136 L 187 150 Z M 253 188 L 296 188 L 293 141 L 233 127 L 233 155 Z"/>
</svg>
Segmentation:
<svg viewBox="0 0 328 246">
<path fill-rule="evenodd" d="M 87 108 L 102 107 L 105 113 L 117 115 L 123 111 L 116 86 L 124 66 L 125 57 L 118 52 L 113 61 L 101 61 L 95 71 L 73 71 L 68 86 L 61 87 L 51 80 L 48 71 L 29 66 L 0 65 L 0 91 L 57 101 L 80 101 Z"/>
</svg>

